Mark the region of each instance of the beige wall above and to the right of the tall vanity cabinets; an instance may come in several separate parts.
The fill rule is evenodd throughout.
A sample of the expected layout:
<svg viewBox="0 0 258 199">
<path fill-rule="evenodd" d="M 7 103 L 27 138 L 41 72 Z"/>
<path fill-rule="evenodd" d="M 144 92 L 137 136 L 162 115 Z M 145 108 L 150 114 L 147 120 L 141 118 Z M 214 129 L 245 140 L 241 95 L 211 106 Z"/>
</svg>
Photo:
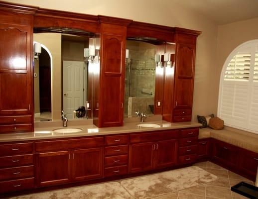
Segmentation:
<svg viewBox="0 0 258 199">
<path fill-rule="evenodd" d="M 196 121 L 196 114 L 216 112 L 217 95 L 214 93 L 216 88 L 214 74 L 217 64 L 214 56 L 216 55 L 217 25 L 194 10 L 177 4 L 176 0 L 76 0 L 73 3 L 70 0 L 9 1 L 202 31 L 203 33 L 197 39 L 193 120 Z"/>
</svg>

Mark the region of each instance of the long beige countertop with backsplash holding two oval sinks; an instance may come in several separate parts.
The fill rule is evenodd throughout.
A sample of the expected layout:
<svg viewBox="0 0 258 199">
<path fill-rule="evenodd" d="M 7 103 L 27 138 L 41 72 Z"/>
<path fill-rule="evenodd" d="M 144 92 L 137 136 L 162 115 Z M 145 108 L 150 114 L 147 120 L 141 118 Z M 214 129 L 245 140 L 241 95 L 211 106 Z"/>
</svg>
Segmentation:
<svg viewBox="0 0 258 199">
<path fill-rule="evenodd" d="M 13 142 L 13 141 L 27 141 L 27 140 L 42 140 L 42 139 L 55 139 L 55 138 L 71 138 L 71 137 L 85 137 L 85 136 L 98 136 L 98 135 L 112 135 L 122 133 L 134 133 L 144 131 L 156 130 L 169 130 L 179 128 L 199 127 L 200 123 L 197 122 L 178 122 L 170 123 L 164 120 L 151 120 L 144 123 L 154 123 L 160 127 L 139 127 L 138 121 L 125 122 L 124 126 L 98 128 L 92 124 L 92 120 L 88 121 L 70 121 L 66 128 L 81 128 L 82 131 L 76 133 L 57 133 L 53 132 L 54 129 L 65 128 L 62 127 L 62 122 L 44 122 L 41 124 L 35 123 L 35 131 L 27 133 L 6 133 L 0 134 L 0 142 Z"/>
</svg>

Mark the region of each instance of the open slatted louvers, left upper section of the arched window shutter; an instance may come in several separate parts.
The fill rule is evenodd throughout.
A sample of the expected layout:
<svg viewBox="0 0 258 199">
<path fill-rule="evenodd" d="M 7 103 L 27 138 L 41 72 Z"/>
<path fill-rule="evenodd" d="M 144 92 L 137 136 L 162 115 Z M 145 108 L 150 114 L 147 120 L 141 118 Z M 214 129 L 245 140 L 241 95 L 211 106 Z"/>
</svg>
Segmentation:
<svg viewBox="0 0 258 199">
<path fill-rule="evenodd" d="M 224 80 L 249 80 L 251 53 L 238 53 L 231 59 Z"/>
</svg>

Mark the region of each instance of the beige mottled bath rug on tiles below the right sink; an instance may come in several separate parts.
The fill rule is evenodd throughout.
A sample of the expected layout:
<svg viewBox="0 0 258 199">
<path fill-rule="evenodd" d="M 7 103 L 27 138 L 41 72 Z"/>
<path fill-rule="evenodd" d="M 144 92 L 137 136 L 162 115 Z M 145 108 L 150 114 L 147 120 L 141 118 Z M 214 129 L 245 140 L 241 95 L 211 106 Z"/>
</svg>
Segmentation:
<svg viewBox="0 0 258 199">
<path fill-rule="evenodd" d="M 135 199 L 150 199 L 217 180 L 217 176 L 192 166 L 124 180 L 122 186 Z"/>
</svg>

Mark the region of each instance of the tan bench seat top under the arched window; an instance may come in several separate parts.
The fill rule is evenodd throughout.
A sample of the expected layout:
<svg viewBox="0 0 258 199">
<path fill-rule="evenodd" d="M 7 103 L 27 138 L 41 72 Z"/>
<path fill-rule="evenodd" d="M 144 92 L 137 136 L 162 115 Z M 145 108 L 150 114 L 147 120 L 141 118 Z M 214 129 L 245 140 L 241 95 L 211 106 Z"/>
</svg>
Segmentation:
<svg viewBox="0 0 258 199">
<path fill-rule="evenodd" d="M 200 128 L 198 139 L 214 138 L 240 148 L 258 153 L 258 134 L 225 129 Z"/>
</svg>

